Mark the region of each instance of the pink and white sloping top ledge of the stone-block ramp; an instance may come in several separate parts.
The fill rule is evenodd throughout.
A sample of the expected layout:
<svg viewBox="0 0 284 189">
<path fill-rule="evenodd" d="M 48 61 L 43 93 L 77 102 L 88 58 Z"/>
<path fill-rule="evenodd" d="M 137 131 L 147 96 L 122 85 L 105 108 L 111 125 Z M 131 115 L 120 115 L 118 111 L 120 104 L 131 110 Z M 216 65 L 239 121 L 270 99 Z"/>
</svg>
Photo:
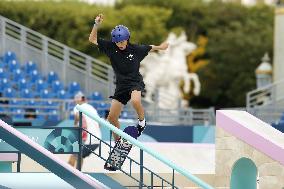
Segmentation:
<svg viewBox="0 0 284 189">
<path fill-rule="evenodd" d="M 217 111 L 218 127 L 284 165 L 284 134 L 245 111 Z"/>
</svg>

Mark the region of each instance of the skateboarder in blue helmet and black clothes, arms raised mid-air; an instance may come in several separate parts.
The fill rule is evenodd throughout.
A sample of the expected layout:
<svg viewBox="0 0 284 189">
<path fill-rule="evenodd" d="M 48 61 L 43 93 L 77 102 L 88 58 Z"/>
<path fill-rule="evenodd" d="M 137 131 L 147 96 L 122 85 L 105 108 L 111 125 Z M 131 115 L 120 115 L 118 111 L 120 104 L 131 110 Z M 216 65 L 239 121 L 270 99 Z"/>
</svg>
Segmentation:
<svg viewBox="0 0 284 189">
<path fill-rule="evenodd" d="M 107 120 L 120 128 L 118 118 L 123 105 L 130 100 L 138 116 L 138 136 L 146 126 L 144 108 L 141 103 L 141 92 L 145 89 L 142 75 L 139 73 L 140 62 L 149 51 L 166 50 L 168 43 L 156 45 L 137 45 L 130 43 L 130 31 L 126 26 L 117 25 L 111 31 L 111 40 L 98 38 L 98 28 L 103 22 L 103 15 L 99 14 L 91 31 L 89 41 L 98 46 L 111 62 L 116 76 L 116 89 L 112 98 L 110 112 Z M 119 136 L 114 134 L 114 139 Z"/>
</svg>

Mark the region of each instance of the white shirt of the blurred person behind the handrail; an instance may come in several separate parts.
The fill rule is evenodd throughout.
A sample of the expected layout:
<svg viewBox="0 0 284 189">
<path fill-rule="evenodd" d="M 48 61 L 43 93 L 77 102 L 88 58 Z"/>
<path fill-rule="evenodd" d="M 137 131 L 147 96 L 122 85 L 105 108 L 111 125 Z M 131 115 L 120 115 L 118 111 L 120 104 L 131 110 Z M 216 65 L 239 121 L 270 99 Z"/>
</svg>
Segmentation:
<svg viewBox="0 0 284 189">
<path fill-rule="evenodd" d="M 90 112 L 91 114 L 98 115 L 97 110 L 92 105 L 88 103 L 84 103 L 81 106 L 88 109 L 88 112 Z M 74 111 L 74 115 L 79 114 L 79 110 L 77 110 L 76 107 L 74 107 L 73 111 Z M 86 120 L 88 132 L 98 137 L 99 139 L 101 139 L 102 133 L 101 133 L 101 129 L 100 129 L 98 122 L 88 117 L 84 113 L 83 113 L 83 117 Z M 98 144 L 99 140 L 95 138 L 94 136 L 91 136 L 91 144 Z M 85 144 L 90 144 L 90 134 L 87 134 L 87 140 L 85 141 Z"/>
</svg>

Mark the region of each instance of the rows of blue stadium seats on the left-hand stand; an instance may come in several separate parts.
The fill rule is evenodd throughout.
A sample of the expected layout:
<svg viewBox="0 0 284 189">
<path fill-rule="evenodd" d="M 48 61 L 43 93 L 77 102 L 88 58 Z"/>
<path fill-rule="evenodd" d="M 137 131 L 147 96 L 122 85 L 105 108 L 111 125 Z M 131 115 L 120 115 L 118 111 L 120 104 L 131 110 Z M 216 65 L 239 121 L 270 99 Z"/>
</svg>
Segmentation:
<svg viewBox="0 0 284 189">
<path fill-rule="evenodd" d="M 67 111 L 68 118 L 73 119 L 73 97 L 79 91 L 84 92 L 78 82 L 64 85 L 55 71 L 44 75 L 37 63 L 32 60 L 20 63 L 12 51 L 0 56 L 0 114 L 11 114 L 18 119 L 59 121 L 62 111 Z M 94 91 L 87 99 L 101 116 L 105 116 L 109 104 L 103 102 L 101 93 Z"/>
</svg>

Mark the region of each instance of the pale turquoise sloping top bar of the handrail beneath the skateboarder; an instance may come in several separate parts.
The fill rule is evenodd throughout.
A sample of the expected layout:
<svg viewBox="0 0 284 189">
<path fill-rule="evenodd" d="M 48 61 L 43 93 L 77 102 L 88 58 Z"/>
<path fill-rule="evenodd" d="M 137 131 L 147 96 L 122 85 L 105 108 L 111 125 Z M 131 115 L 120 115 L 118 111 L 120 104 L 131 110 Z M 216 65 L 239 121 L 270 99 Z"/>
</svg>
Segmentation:
<svg viewBox="0 0 284 189">
<path fill-rule="evenodd" d="M 101 126 L 107 127 L 108 129 L 110 129 L 111 131 L 113 131 L 114 133 L 118 134 L 119 136 L 125 138 L 126 140 L 128 140 L 129 142 L 131 142 L 132 144 L 134 144 L 135 146 L 137 146 L 138 148 L 140 148 L 141 150 L 147 152 L 149 155 L 153 156 L 154 158 L 156 158 L 157 160 L 163 162 L 164 164 L 166 164 L 167 166 L 171 167 L 173 170 L 175 170 L 176 172 L 179 172 L 180 174 L 184 175 L 186 178 L 188 178 L 189 180 L 191 180 L 192 182 L 194 182 L 195 184 L 199 185 L 200 187 L 204 188 L 204 189 L 213 189 L 212 186 L 208 185 L 207 183 L 205 183 L 204 181 L 202 181 L 201 179 L 199 179 L 198 177 L 192 175 L 191 173 L 189 173 L 187 170 L 185 170 L 182 167 L 179 167 L 178 165 L 174 164 L 173 162 L 171 162 L 170 160 L 166 159 L 165 157 L 159 155 L 158 153 L 156 153 L 155 151 L 153 151 L 152 149 L 146 147 L 144 144 L 142 144 L 141 142 L 139 142 L 138 140 L 130 137 L 129 135 L 127 135 L 126 133 L 124 133 L 123 131 L 121 131 L 120 129 L 116 128 L 115 126 L 111 125 L 109 122 L 107 122 L 106 120 L 100 118 L 98 115 L 92 114 L 90 113 L 90 111 L 88 111 L 88 109 L 86 107 L 83 107 L 82 105 L 77 105 L 76 108 L 84 113 L 85 115 L 89 116 L 91 119 L 96 120 Z"/>
</svg>

